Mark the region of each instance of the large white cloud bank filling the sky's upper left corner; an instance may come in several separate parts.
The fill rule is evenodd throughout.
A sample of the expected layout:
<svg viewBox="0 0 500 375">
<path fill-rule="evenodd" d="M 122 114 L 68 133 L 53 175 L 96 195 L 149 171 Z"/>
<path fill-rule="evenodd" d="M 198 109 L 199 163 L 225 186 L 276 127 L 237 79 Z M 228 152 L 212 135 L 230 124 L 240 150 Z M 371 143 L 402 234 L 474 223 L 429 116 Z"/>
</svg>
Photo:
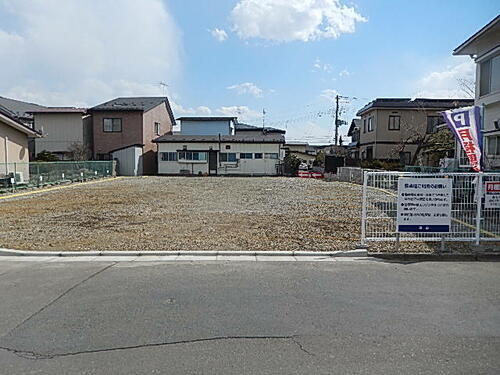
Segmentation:
<svg viewBox="0 0 500 375">
<path fill-rule="evenodd" d="M 180 33 L 161 0 L 2 0 L 0 94 L 45 105 L 161 95 L 180 72 Z"/>
</svg>

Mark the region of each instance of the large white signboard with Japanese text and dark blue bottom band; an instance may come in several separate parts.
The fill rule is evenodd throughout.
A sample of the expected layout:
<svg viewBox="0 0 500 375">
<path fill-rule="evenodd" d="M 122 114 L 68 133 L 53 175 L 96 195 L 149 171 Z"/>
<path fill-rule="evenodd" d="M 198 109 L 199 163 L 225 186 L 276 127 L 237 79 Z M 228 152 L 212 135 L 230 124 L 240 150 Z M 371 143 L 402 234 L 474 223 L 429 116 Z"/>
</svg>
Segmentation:
<svg viewBox="0 0 500 375">
<path fill-rule="evenodd" d="M 397 231 L 450 232 L 452 182 L 451 178 L 400 178 Z"/>
</svg>

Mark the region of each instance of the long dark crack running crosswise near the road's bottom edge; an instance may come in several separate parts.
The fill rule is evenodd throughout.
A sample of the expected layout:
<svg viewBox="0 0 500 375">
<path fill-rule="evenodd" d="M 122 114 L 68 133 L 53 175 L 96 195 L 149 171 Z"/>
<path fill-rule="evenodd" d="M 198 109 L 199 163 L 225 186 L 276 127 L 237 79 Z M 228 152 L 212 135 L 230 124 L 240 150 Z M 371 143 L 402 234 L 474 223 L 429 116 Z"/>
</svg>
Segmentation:
<svg viewBox="0 0 500 375">
<path fill-rule="evenodd" d="M 207 338 L 199 338 L 192 340 L 179 340 L 179 341 L 167 341 L 167 342 L 158 342 L 158 343 L 148 343 L 148 344 L 140 344 L 140 345 L 130 345 L 130 346 L 118 346 L 112 348 L 103 348 L 103 349 L 93 349 L 93 350 L 82 350 L 77 352 L 67 352 L 67 353 L 54 353 L 54 354 L 42 354 L 34 351 L 26 351 L 26 350 L 17 350 L 13 348 L 0 347 L 0 350 L 5 350 L 10 353 L 17 355 L 18 357 L 31 359 L 31 360 L 40 360 L 40 359 L 54 359 L 60 357 L 69 357 L 81 354 L 95 354 L 95 353 L 106 353 L 120 350 L 134 350 L 134 349 L 144 349 L 144 348 L 154 348 L 154 347 L 162 347 L 162 346 L 173 346 L 173 345 L 185 345 L 185 344 L 194 344 L 200 342 L 210 342 L 210 341 L 224 341 L 224 340 L 291 340 L 302 352 L 313 356 L 314 354 L 306 350 L 302 344 L 297 340 L 298 336 L 216 336 L 216 337 L 207 337 Z"/>
</svg>

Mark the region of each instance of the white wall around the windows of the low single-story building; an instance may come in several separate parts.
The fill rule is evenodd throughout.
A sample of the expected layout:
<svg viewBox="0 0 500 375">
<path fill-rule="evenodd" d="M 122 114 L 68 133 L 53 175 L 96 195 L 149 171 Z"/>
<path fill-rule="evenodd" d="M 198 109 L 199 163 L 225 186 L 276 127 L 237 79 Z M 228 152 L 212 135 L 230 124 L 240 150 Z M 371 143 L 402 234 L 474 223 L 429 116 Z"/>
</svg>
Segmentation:
<svg viewBox="0 0 500 375">
<path fill-rule="evenodd" d="M 187 146 L 186 151 L 208 152 L 210 148 L 219 151 L 219 144 L 213 143 L 159 143 L 158 144 L 158 174 L 180 174 L 181 170 L 190 171 L 191 174 L 208 174 L 208 155 L 205 161 L 162 161 L 162 152 L 177 152 Z M 226 149 L 229 146 L 230 149 Z M 236 153 L 237 162 L 220 162 L 217 160 L 217 174 L 219 175 L 253 175 L 253 176 L 274 176 L 277 174 L 276 166 L 283 161 L 283 152 L 280 144 L 272 143 L 221 143 L 221 152 Z M 240 153 L 262 153 L 263 159 L 240 159 Z M 278 159 L 266 159 L 266 153 L 277 153 Z"/>
</svg>

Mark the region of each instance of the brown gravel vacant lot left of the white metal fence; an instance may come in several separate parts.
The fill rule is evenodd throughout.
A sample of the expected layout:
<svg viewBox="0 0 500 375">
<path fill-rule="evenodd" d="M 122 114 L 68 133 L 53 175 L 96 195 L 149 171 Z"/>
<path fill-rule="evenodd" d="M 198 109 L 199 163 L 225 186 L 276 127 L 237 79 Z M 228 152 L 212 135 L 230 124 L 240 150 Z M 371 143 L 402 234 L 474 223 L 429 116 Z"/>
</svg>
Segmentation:
<svg viewBox="0 0 500 375">
<path fill-rule="evenodd" d="M 0 247 L 350 250 L 361 187 L 298 178 L 120 178 L 0 201 Z"/>
</svg>

